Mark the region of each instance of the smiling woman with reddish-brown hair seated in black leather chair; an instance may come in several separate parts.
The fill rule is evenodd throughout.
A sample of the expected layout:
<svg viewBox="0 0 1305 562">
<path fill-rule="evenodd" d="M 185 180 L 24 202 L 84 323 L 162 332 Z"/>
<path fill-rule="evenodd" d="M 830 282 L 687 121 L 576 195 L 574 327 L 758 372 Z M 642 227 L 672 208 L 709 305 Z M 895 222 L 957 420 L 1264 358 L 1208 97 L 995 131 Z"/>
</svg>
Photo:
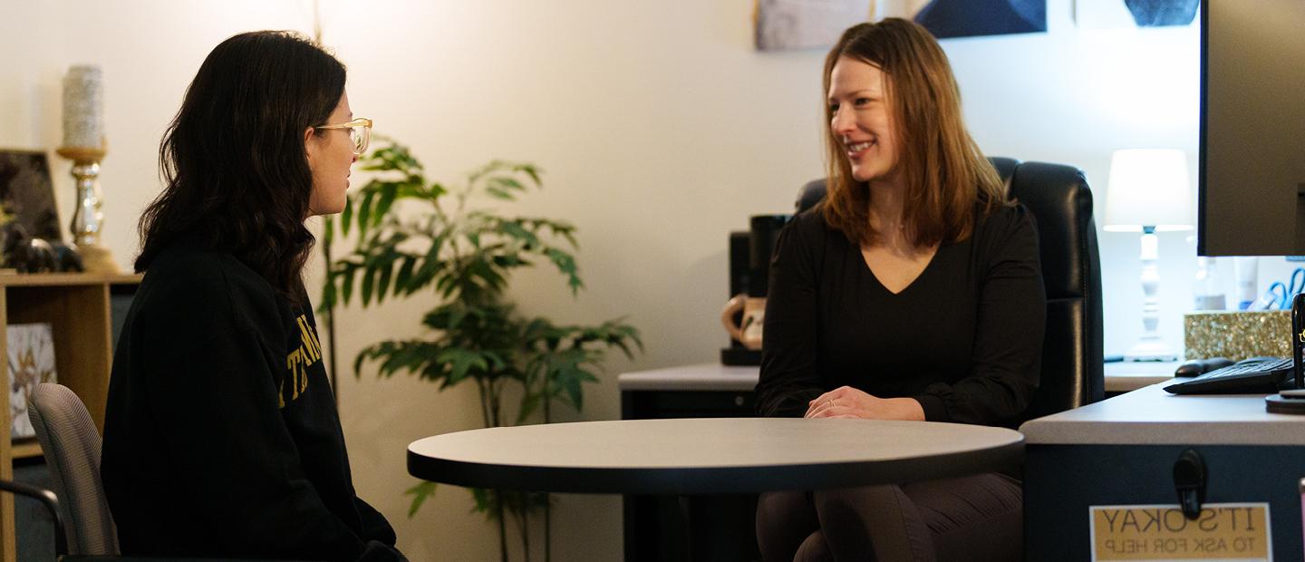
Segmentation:
<svg viewBox="0 0 1305 562">
<path fill-rule="evenodd" d="M 904 20 L 848 29 L 825 61 L 826 200 L 776 243 L 765 416 L 1015 425 L 1037 387 L 1037 233 L 966 132 L 946 55 Z M 767 561 L 1021 558 L 1000 473 L 762 494 Z"/>
</svg>

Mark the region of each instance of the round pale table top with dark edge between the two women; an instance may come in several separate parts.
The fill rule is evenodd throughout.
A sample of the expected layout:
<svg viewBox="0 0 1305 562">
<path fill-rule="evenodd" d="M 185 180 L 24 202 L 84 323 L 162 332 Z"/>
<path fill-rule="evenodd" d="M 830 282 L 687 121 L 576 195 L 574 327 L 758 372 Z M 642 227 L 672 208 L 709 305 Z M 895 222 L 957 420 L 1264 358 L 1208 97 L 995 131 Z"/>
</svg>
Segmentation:
<svg viewBox="0 0 1305 562">
<path fill-rule="evenodd" d="M 1010 468 L 1023 436 L 925 421 L 679 419 L 474 429 L 408 445 L 408 473 L 459 486 L 726 494 Z"/>
</svg>

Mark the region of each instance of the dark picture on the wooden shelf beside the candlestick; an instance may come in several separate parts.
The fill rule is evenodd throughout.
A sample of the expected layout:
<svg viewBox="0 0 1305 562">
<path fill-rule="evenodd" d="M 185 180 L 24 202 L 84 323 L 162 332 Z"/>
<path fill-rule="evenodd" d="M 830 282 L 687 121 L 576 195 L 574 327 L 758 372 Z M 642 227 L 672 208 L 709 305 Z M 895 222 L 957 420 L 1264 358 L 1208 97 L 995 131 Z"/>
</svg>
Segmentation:
<svg viewBox="0 0 1305 562">
<path fill-rule="evenodd" d="M 46 153 L 0 150 L 0 205 L 29 236 L 63 240 Z"/>
</svg>

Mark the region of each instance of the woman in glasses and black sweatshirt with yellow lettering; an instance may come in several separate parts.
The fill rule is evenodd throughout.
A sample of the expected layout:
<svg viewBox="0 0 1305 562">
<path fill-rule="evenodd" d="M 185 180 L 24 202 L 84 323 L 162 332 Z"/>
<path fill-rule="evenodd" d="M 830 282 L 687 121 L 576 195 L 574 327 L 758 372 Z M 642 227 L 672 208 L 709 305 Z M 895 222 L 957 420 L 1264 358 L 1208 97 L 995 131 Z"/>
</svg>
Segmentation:
<svg viewBox="0 0 1305 562">
<path fill-rule="evenodd" d="M 114 357 L 100 473 L 123 554 L 403 559 L 354 492 L 301 280 L 371 121 L 286 31 L 209 53 L 163 136 L 145 279 Z"/>
</svg>

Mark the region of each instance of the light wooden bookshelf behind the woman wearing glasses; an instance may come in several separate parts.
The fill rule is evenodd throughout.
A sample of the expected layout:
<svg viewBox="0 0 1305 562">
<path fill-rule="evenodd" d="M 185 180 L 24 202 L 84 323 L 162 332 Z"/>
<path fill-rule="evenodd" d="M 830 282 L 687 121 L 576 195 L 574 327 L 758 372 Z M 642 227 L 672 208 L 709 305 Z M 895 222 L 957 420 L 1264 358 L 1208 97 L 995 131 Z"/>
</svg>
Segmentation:
<svg viewBox="0 0 1305 562">
<path fill-rule="evenodd" d="M 50 323 L 55 370 L 60 385 L 86 403 L 91 420 L 104 430 L 104 403 L 112 366 L 115 326 L 121 326 L 140 275 L 7 274 L 0 275 L 0 327 Z M 0 330 L 3 335 L 5 330 Z M 8 340 L 0 336 L 0 381 L 9 381 Z M 9 408 L 0 408 L 0 480 L 13 480 L 13 460 L 40 456 L 35 438 L 10 439 Z M 0 494 L 0 559 L 17 559 L 14 498 Z"/>
</svg>

